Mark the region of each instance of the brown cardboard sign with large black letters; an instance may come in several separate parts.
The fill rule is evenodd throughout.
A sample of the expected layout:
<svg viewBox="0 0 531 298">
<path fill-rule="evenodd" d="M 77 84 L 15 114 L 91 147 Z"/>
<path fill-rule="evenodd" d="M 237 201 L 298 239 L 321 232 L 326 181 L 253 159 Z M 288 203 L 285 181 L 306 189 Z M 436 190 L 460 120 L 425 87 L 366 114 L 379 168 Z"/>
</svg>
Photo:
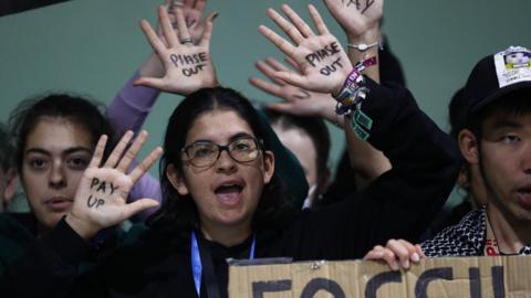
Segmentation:
<svg viewBox="0 0 531 298">
<path fill-rule="evenodd" d="M 407 272 L 364 260 L 256 264 L 232 262 L 229 297 L 531 297 L 531 256 L 428 258 Z"/>
</svg>

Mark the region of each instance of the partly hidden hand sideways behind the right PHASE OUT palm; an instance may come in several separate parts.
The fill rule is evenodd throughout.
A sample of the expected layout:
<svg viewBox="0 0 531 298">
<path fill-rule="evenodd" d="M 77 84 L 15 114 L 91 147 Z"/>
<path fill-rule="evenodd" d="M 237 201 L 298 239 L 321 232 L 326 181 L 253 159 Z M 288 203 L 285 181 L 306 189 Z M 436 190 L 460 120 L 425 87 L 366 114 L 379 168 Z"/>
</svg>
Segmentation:
<svg viewBox="0 0 531 298">
<path fill-rule="evenodd" d="M 289 62 L 294 68 L 298 67 L 293 61 Z M 258 61 L 256 66 L 271 83 L 258 77 L 251 77 L 249 82 L 263 92 L 284 99 L 283 103 L 269 104 L 267 108 L 296 116 L 323 117 L 332 123 L 336 120 L 336 102 L 330 94 L 305 91 L 274 77 L 275 72 L 289 72 L 289 68 L 272 57 Z"/>
</svg>

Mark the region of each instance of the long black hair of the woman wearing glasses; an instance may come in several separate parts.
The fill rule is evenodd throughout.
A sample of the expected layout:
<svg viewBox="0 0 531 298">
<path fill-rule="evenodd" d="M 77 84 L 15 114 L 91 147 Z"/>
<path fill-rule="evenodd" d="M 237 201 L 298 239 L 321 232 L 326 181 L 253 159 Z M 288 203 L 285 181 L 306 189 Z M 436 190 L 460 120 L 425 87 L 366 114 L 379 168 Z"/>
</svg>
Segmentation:
<svg viewBox="0 0 531 298">
<path fill-rule="evenodd" d="M 188 130 L 198 117 L 212 110 L 231 110 L 238 114 L 249 124 L 254 136 L 263 141 L 263 149 L 272 150 L 271 138 L 257 110 L 241 94 L 225 87 L 202 88 L 191 93 L 177 106 L 168 120 L 159 167 L 164 200 L 162 207 L 148 219 L 148 225 L 181 233 L 199 228 L 199 215 L 191 195 L 180 195 L 167 178 L 166 170 L 173 164 L 183 173 L 181 149 L 185 147 Z M 252 228 L 281 228 L 291 212 L 291 205 L 284 198 L 284 185 L 278 174 L 273 173 L 270 183 L 264 185 L 253 214 Z"/>
</svg>

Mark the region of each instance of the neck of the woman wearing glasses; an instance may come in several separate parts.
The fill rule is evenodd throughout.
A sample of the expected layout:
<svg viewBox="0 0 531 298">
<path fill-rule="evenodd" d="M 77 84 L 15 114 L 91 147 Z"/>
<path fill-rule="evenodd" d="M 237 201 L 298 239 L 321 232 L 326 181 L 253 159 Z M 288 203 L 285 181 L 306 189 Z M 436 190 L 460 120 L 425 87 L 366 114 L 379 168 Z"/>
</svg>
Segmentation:
<svg viewBox="0 0 531 298">
<path fill-rule="evenodd" d="M 230 247 L 244 242 L 251 235 L 251 224 L 221 226 L 201 223 L 201 232 L 205 235 L 205 238 Z"/>
</svg>

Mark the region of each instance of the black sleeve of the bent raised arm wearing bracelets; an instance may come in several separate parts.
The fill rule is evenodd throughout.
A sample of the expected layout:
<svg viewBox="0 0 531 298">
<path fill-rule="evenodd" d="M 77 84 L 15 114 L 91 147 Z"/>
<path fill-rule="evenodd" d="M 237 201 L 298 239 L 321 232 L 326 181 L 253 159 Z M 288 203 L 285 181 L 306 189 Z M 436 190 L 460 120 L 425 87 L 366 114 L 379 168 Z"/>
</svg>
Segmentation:
<svg viewBox="0 0 531 298">
<path fill-rule="evenodd" d="M 416 242 L 455 184 L 459 151 L 454 140 L 407 89 L 368 78 L 367 86 L 361 108 L 366 118 L 356 123 L 364 123 L 357 125 L 389 159 L 392 170 L 350 200 L 304 212 L 294 227 L 298 258 L 358 258 L 389 238 Z"/>
</svg>

